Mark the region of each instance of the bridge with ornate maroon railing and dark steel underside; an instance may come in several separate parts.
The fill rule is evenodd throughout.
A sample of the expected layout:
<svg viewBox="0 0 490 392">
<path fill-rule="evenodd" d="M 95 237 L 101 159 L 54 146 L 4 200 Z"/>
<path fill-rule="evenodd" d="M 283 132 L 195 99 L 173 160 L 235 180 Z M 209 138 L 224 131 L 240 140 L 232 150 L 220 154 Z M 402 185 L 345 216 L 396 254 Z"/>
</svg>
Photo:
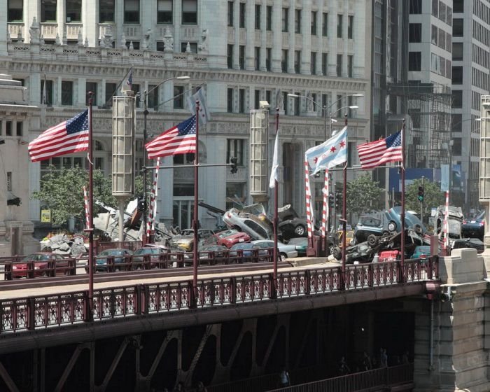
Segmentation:
<svg viewBox="0 0 490 392">
<path fill-rule="evenodd" d="M 465 265 L 479 263 L 481 272 L 481 256 L 461 252 L 471 260 Z M 341 354 L 355 364 L 382 344 L 391 347 L 390 368 L 402 349 L 410 351 L 409 384 L 420 369 L 417 358 L 433 360 L 420 339 L 433 330 L 430 309 L 442 304 L 437 295 L 454 257 L 344 271 L 324 260 L 282 261 L 275 280 L 272 262 L 210 262 L 199 267 L 197 295 L 188 267 L 97 273 L 92 311 L 86 274 L 6 280 L 0 390 L 151 391 L 204 381 L 214 391 L 282 366 L 297 374 L 322 364 L 332 370 Z M 337 375 L 330 370 L 323 379 Z M 309 390 L 301 388 L 291 391 Z"/>
</svg>

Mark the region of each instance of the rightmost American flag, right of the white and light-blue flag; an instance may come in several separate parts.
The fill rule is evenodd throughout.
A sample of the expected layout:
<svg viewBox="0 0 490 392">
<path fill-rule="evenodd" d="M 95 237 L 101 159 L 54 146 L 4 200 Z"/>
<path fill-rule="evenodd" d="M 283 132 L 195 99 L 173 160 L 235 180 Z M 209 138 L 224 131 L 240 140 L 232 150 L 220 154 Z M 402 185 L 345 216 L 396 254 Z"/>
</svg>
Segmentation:
<svg viewBox="0 0 490 392">
<path fill-rule="evenodd" d="M 402 131 L 391 134 L 386 139 L 360 144 L 357 151 L 363 169 L 372 169 L 387 162 L 402 161 Z"/>
</svg>

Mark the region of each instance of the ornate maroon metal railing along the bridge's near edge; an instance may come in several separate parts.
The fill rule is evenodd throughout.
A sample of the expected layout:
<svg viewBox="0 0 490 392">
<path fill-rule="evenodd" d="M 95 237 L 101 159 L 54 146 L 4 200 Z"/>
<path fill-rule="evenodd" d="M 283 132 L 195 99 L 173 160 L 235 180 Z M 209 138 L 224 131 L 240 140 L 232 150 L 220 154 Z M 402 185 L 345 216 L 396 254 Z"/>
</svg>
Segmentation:
<svg viewBox="0 0 490 392">
<path fill-rule="evenodd" d="M 94 290 L 92 311 L 88 290 L 2 300 L 0 334 L 107 318 L 400 286 L 404 283 L 395 276 L 401 273 L 399 262 L 393 261 L 346 266 L 344 286 L 339 266 L 279 272 L 276 281 L 269 273 L 198 279 L 196 293 L 191 280 L 104 288 Z M 405 284 L 437 279 L 437 258 L 430 259 L 428 265 L 420 260 L 408 262 L 403 274 Z"/>
</svg>

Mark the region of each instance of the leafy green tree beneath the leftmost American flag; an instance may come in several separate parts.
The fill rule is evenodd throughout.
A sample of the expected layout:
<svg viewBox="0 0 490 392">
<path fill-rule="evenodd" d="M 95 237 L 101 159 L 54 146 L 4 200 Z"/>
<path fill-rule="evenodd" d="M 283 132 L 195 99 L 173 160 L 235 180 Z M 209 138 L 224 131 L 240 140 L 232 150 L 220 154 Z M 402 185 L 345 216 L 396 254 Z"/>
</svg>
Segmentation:
<svg viewBox="0 0 490 392">
<path fill-rule="evenodd" d="M 49 167 L 49 172 L 41 179 L 40 190 L 32 193 L 31 199 L 41 200 L 51 209 L 52 223 L 64 225 L 72 216 L 85 220 L 83 204 L 83 186 L 88 190 L 88 172 L 80 167 L 57 170 Z M 101 170 L 93 172 L 94 200 L 117 208 L 116 198 L 112 195 L 111 179 Z M 94 214 L 100 212 L 100 207 L 94 203 Z"/>
</svg>

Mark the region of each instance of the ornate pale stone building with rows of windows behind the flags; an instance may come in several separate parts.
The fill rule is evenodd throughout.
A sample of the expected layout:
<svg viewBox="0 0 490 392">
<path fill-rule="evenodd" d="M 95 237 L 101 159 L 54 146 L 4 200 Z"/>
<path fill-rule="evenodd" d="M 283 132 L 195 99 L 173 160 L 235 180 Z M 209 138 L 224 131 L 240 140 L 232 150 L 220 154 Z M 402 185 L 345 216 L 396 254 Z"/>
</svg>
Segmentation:
<svg viewBox="0 0 490 392">
<path fill-rule="evenodd" d="M 344 113 L 353 118 L 351 157 L 357 156 L 358 141 L 369 139 L 370 17 L 370 4 L 363 0 L 1 1 L 0 71 L 20 80 L 29 104 L 39 108 L 26 129 L 30 139 L 85 109 L 87 92 L 94 92 L 94 165 L 107 174 L 111 97 L 130 68 L 133 90 L 140 93 L 137 171 L 144 154 L 141 94 L 151 91 L 148 134 L 156 136 L 190 116 L 185 97 L 202 87 L 211 120 L 200 128 L 200 162 L 238 160 L 237 174 L 228 167 L 200 169 L 200 200 L 221 209 L 231 207 L 232 200 L 251 202 L 248 112 L 266 100 L 272 114 L 276 107 L 280 113 L 279 202 L 293 204 L 304 215 L 304 151 L 325 140 L 330 113 L 339 118 L 338 125 Z M 190 80 L 158 86 L 176 76 Z M 193 155 L 179 155 L 162 162 L 172 168 L 160 172 L 158 218 L 169 225 L 190 226 L 193 169 L 185 166 L 192 161 Z M 85 155 L 31 164 L 31 190 L 48 165 L 84 167 Z M 41 203 L 29 204 L 29 218 L 38 222 Z M 200 221 L 203 227 L 215 224 L 204 211 Z"/>
</svg>

